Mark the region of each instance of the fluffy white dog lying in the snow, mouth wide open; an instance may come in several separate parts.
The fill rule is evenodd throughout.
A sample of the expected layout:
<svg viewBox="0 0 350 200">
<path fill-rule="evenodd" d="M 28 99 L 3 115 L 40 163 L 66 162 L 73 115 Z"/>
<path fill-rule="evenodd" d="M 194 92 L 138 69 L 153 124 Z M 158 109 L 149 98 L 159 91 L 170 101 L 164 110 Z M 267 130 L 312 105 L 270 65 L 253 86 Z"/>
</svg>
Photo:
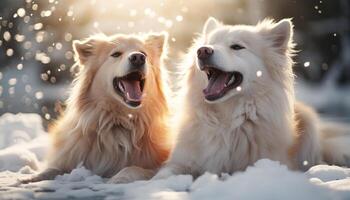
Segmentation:
<svg viewBox="0 0 350 200">
<path fill-rule="evenodd" d="M 256 26 L 207 20 L 182 66 L 177 143 L 154 179 L 233 173 L 262 158 L 291 169 L 348 164 L 349 146 L 336 151 L 336 140 L 321 140 L 317 115 L 295 101 L 292 36 L 289 19 Z"/>
</svg>

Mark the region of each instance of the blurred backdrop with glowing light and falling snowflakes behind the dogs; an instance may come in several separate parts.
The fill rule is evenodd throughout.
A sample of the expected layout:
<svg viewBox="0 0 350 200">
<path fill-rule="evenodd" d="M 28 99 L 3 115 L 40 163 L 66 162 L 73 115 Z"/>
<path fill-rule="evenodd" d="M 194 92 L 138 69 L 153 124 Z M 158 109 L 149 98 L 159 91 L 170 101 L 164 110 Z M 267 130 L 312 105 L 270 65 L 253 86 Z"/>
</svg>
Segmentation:
<svg viewBox="0 0 350 200">
<path fill-rule="evenodd" d="M 74 39 L 166 30 L 176 63 L 209 16 L 227 24 L 293 18 L 297 98 L 326 120 L 350 122 L 349 0 L 1 0 L 0 115 L 57 117 Z"/>
</svg>

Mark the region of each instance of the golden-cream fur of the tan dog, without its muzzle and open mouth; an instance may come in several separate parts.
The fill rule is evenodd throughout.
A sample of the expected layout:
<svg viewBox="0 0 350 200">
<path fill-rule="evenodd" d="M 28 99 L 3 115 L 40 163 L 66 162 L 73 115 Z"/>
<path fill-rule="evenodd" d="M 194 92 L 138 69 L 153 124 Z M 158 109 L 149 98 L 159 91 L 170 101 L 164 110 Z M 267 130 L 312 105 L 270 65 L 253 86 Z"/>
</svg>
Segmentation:
<svg viewBox="0 0 350 200">
<path fill-rule="evenodd" d="M 80 164 L 112 177 L 113 183 L 153 175 L 170 150 L 165 44 L 165 34 L 97 35 L 74 42 L 80 72 L 67 108 L 50 132 L 48 170 L 31 181 L 53 178 Z M 116 50 L 123 52 L 120 58 L 110 56 Z M 128 71 L 127 55 L 133 51 L 147 54 L 145 94 L 137 109 L 128 107 L 112 85 L 114 76 Z"/>
</svg>

